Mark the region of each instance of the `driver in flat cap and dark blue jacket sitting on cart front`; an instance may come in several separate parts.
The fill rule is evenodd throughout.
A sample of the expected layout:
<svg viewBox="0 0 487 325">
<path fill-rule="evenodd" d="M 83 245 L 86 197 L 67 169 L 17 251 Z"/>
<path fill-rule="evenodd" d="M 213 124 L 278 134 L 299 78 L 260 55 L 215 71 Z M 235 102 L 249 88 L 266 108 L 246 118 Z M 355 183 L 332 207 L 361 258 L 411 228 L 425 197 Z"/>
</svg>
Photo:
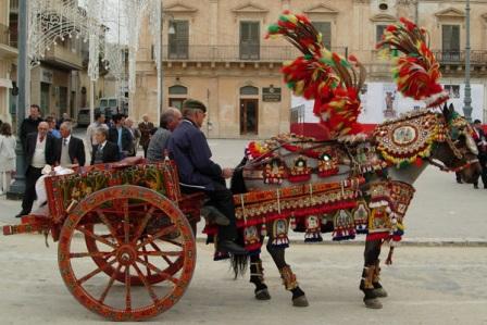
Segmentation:
<svg viewBox="0 0 487 325">
<path fill-rule="evenodd" d="M 207 108 L 197 100 L 183 103 L 182 123 L 173 132 L 168 150 L 175 160 L 183 190 L 204 191 L 215 207 L 228 220 L 228 225 L 218 225 L 218 253 L 246 254 L 237 245 L 237 226 L 233 195 L 226 188 L 225 178 L 232 177 L 233 170 L 223 168 L 211 161 L 211 150 L 204 134 L 200 130 L 207 116 Z"/>
</svg>

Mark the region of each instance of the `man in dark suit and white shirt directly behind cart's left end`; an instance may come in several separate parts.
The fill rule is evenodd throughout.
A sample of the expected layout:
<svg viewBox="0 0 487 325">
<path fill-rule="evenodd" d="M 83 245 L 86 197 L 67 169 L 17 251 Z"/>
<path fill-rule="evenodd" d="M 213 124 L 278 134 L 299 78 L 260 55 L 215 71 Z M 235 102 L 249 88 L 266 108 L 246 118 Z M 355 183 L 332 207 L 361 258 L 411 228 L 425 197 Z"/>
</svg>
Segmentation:
<svg viewBox="0 0 487 325">
<path fill-rule="evenodd" d="M 59 132 L 61 133 L 61 141 L 58 140 L 60 152 L 60 164 L 63 167 L 71 165 L 85 165 L 85 145 L 83 140 L 71 135 L 73 130 L 71 122 L 61 123 Z"/>
</svg>

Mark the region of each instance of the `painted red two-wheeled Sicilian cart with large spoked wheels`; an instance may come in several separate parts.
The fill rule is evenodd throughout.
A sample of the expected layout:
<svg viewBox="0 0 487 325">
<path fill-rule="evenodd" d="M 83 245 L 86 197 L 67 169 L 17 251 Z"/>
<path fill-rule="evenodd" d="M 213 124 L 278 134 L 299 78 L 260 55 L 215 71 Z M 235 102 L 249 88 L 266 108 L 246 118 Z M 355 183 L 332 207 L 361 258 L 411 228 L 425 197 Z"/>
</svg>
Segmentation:
<svg viewBox="0 0 487 325">
<path fill-rule="evenodd" d="M 49 234 L 61 276 L 84 307 L 114 321 L 175 304 L 195 270 L 203 196 L 182 195 L 172 161 L 126 160 L 45 178 L 47 207 L 4 235 Z"/>
</svg>

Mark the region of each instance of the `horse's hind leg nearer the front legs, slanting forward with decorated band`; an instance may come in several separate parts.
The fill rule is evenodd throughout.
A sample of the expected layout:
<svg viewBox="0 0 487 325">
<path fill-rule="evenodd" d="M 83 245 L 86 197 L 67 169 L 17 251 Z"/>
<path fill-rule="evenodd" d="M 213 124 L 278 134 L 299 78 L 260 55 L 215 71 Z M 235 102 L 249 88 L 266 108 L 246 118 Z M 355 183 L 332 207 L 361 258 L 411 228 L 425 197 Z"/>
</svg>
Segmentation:
<svg viewBox="0 0 487 325">
<path fill-rule="evenodd" d="M 298 285 L 296 280 L 296 275 L 292 273 L 291 267 L 286 264 L 285 259 L 285 249 L 280 247 L 272 246 L 272 239 L 267 241 L 267 251 L 271 254 L 274 263 L 280 273 L 280 278 L 283 279 L 283 284 L 286 287 L 286 290 L 292 292 L 292 305 L 295 307 L 307 307 L 309 305 L 307 296 L 304 291 Z"/>
</svg>

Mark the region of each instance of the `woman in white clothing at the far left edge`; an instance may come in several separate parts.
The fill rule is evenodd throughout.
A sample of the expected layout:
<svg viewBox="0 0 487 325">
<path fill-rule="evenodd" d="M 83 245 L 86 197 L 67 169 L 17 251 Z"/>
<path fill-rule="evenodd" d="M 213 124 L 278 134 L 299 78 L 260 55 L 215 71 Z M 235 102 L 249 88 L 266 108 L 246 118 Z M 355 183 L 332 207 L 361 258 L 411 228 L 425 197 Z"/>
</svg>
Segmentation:
<svg viewBox="0 0 487 325">
<path fill-rule="evenodd" d="M 3 123 L 0 126 L 0 195 L 10 189 L 12 172 L 15 171 L 15 146 L 12 126 Z"/>
</svg>

